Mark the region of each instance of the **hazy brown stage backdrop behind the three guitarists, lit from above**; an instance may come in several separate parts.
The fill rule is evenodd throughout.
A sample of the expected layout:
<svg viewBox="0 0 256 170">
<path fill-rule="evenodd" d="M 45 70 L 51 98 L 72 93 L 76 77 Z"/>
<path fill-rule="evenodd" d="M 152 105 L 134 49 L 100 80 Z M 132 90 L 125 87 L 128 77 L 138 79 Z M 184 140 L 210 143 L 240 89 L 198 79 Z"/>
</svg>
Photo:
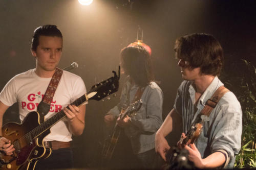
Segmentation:
<svg viewBox="0 0 256 170">
<path fill-rule="evenodd" d="M 30 53 L 35 28 L 57 25 L 63 34 L 60 68 L 77 62 L 71 72 L 82 77 L 87 89 L 118 70 L 118 54 L 136 40 L 138 27 L 143 42 L 152 48 L 155 76 L 164 93 L 163 118 L 173 108 L 182 79 L 174 56 L 176 38 L 191 33 L 214 35 L 224 49 L 224 70 L 246 59 L 256 65 L 255 1 L 170 1 L 170 0 L 94 0 L 81 6 L 76 0 L 0 0 L 0 89 L 16 74 L 35 67 Z M 120 79 L 120 89 L 124 76 Z M 90 101 L 86 128 L 74 137 L 76 167 L 97 167 L 103 116 L 119 99 Z M 17 106 L 9 108 L 4 123 L 18 120 Z M 180 132 L 168 141 L 175 144 Z M 172 140 L 170 139 L 172 138 Z"/>
</svg>

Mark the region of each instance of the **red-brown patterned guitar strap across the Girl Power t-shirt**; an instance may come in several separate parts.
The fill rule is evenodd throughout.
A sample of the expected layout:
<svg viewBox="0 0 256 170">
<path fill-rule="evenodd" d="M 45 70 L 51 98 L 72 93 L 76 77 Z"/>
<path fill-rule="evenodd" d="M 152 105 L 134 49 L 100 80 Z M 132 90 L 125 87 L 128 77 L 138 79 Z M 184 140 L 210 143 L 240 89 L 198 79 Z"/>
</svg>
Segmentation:
<svg viewBox="0 0 256 170">
<path fill-rule="evenodd" d="M 55 69 L 54 75 L 52 76 L 52 79 L 46 89 L 44 98 L 42 98 L 42 101 L 37 106 L 37 112 L 40 115 L 40 123 L 45 122 L 45 115 L 50 111 L 51 102 L 54 96 L 54 93 L 57 89 L 57 86 L 59 84 L 62 70 L 59 68 Z"/>
</svg>

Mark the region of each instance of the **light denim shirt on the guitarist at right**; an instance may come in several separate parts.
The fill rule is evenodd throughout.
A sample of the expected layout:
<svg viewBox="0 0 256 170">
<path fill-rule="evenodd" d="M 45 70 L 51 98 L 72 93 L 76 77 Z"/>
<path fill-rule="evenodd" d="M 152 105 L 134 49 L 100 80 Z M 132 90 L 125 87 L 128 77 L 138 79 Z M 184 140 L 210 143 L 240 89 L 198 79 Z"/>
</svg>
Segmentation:
<svg viewBox="0 0 256 170">
<path fill-rule="evenodd" d="M 197 106 L 195 104 L 196 90 L 193 82 L 183 81 L 178 88 L 174 108 L 182 116 L 183 131 L 190 129 L 205 103 L 223 83 L 215 77 L 201 95 Z M 227 168 L 232 168 L 236 155 L 241 148 L 242 110 L 240 103 L 232 92 L 227 92 L 211 111 L 209 120 L 203 125 L 203 130 L 195 144 L 202 158 L 224 150 L 230 158 Z"/>
</svg>

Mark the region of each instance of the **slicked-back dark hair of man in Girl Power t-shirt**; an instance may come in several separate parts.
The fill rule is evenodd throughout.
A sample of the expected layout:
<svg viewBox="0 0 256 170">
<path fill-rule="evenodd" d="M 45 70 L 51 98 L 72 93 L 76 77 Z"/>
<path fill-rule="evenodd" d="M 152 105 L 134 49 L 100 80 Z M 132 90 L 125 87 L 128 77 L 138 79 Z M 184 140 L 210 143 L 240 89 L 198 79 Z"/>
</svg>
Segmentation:
<svg viewBox="0 0 256 170">
<path fill-rule="evenodd" d="M 31 49 L 33 51 L 36 51 L 36 48 L 39 44 L 39 36 L 56 36 L 62 38 L 62 34 L 60 30 L 57 28 L 55 25 L 44 25 L 40 26 L 35 29 L 33 37 L 32 37 L 32 42 L 31 42 Z"/>
</svg>

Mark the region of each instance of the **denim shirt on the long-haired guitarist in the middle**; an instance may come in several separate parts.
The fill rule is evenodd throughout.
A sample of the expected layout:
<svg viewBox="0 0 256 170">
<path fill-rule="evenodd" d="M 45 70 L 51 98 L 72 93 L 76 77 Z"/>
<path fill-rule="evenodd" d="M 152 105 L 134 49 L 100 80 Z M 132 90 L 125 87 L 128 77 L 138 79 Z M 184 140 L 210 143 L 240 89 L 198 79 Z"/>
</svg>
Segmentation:
<svg viewBox="0 0 256 170">
<path fill-rule="evenodd" d="M 107 114 L 118 116 L 122 107 L 129 106 L 134 99 L 138 86 L 131 86 L 126 81 L 120 96 L 120 102 Z M 131 140 L 134 154 L 140 154 L 155 148 L 155 134 L 162 124 L 163 92 L 160 87 L 151 82 L 141 96 L 142 106 L 137 114 L 131 117 L 131 124 L 124 132 Z"/>
</svg>

